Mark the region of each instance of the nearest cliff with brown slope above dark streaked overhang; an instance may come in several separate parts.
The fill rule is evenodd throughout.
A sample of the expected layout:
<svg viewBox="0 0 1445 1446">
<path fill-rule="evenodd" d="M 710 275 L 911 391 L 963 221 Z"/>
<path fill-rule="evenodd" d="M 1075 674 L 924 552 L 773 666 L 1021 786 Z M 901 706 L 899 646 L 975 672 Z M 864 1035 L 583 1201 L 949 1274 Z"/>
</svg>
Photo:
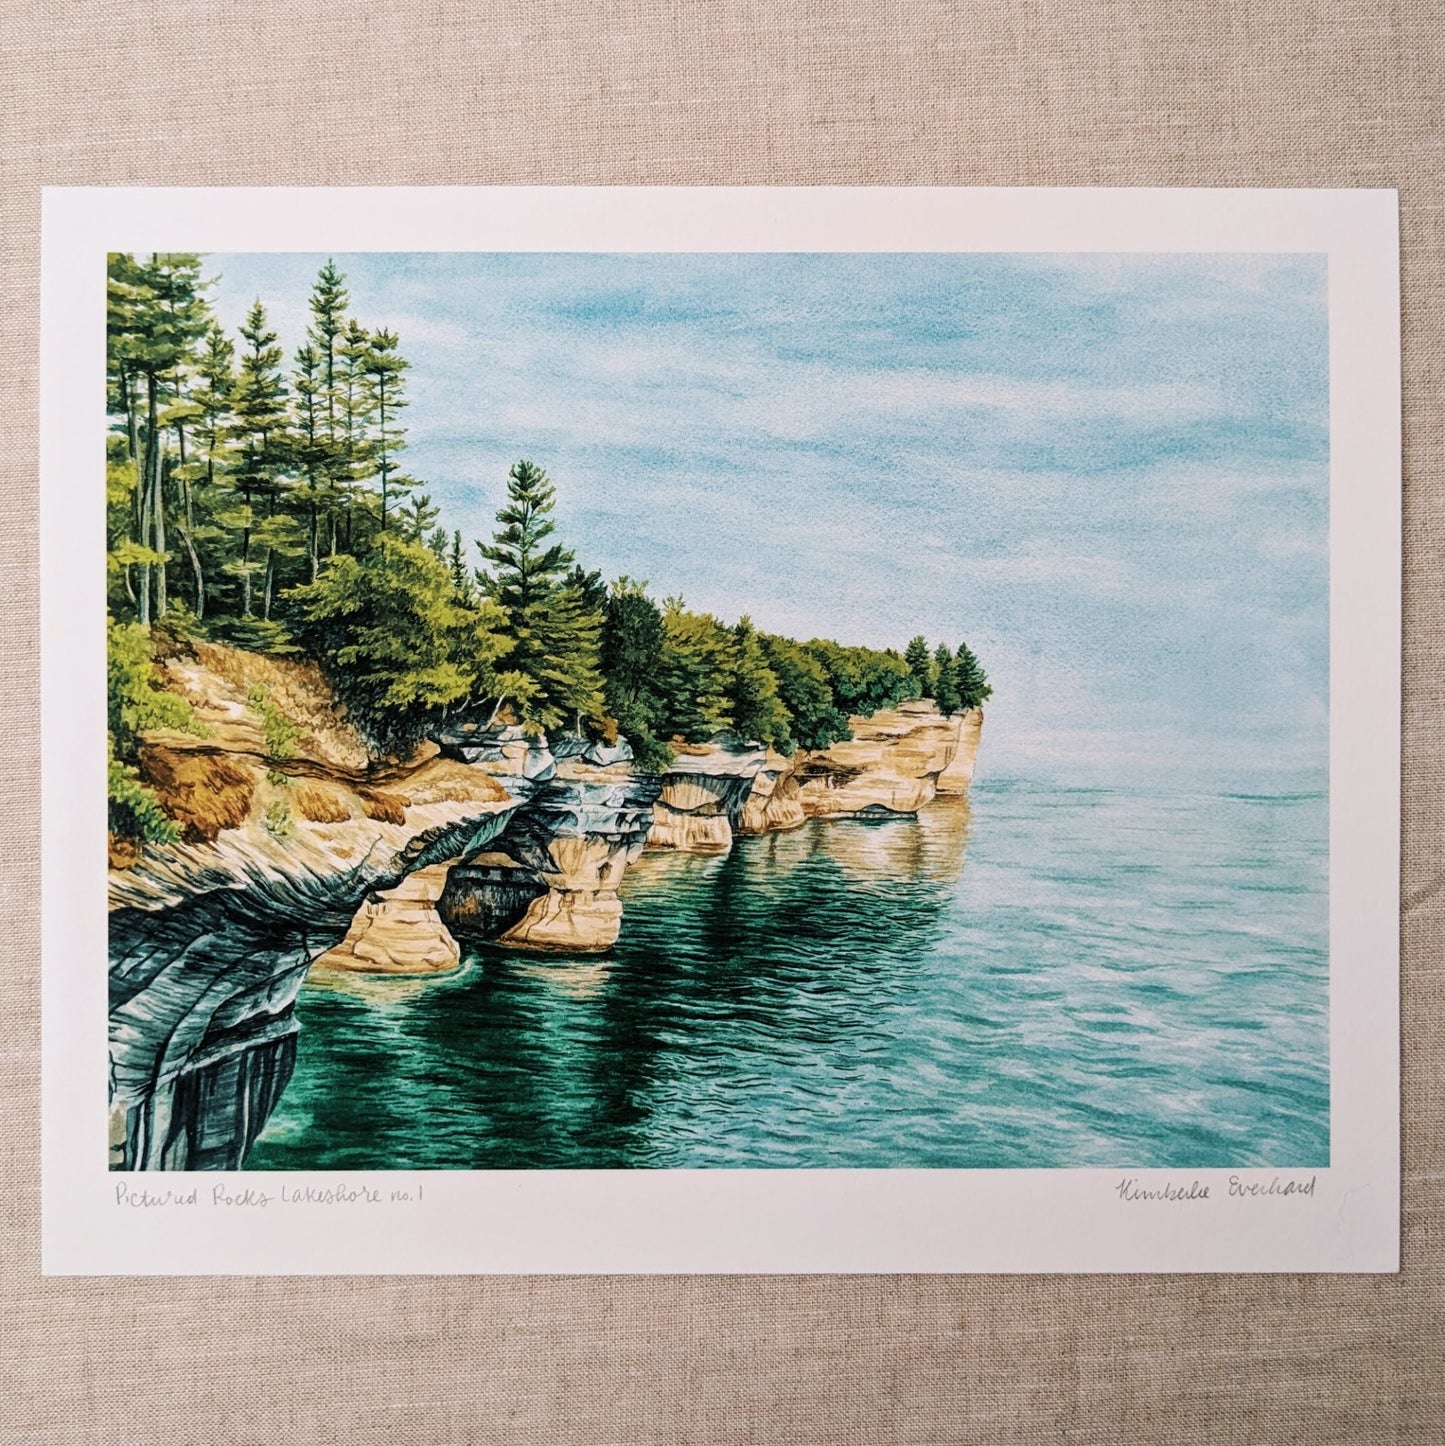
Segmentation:
<svg viewBox="0 0 1445 1446">
<path fill-rule="evenodd" d="M 211 645 L 166 668 L 207 732 L 146 736 L 187 837 L 110 873 L 111 1164 L 233 1170 L 289 1079 L 311 962 L 363 899 L 480 852 L 521 800 L 435 746 L 367 765 L 305 668 Z M 299 726 L 285 758 L 268 756 L 257 685 Z M 195 779 L 221 766 L 224 808 L 208 808 Z"/>
</svg>

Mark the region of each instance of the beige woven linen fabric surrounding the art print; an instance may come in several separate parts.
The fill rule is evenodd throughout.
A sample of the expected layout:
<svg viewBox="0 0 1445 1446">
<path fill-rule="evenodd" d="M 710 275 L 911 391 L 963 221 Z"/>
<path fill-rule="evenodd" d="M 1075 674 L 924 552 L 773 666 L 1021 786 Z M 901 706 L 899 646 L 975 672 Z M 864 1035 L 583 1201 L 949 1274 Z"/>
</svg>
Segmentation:
<svg viewBox="0 0 1445 1446">
<path fill-rule="evenodd" d="M 0 0 L 0 1442 L 1445 1442 L 1441 20 Z M 41 1277 L 39 187 L 487 182 L 1400 188 L 1403 1274 Z"/>
</svg>

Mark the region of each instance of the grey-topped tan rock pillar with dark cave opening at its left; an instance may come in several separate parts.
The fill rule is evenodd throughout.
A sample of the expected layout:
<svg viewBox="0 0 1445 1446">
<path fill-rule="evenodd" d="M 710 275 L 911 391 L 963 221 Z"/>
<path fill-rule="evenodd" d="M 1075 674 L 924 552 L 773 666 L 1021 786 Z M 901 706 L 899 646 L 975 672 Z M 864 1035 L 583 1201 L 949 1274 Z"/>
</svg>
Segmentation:
<svg viewBox="0 0 1445 1446">
<path fill-rule="evenodd" d="M 618 885 L 647 843 L 661 787 L 626 761 L 567 759 L 486 849 L 451 868 L 443 923 L 511 949 L 609 949 L 622 927 Z"/>
</svg>

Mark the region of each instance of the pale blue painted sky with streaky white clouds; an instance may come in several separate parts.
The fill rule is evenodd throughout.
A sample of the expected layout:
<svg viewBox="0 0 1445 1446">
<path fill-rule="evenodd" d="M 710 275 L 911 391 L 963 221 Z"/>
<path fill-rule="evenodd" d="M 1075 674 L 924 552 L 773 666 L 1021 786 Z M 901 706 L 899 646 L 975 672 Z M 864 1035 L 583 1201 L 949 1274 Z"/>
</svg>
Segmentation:
<svg viewBox="0 0 1445 1446">
<path fill-rule="evenodd" d="M 321 256 L 210 256 L 288 359 Z M 487 536 L 519 457 L 605 577 L 796 638 L 968 641 L 981 768 L 1321 774 L 1322 256 L 337 256 L 406 467 Z"/>
</svg>

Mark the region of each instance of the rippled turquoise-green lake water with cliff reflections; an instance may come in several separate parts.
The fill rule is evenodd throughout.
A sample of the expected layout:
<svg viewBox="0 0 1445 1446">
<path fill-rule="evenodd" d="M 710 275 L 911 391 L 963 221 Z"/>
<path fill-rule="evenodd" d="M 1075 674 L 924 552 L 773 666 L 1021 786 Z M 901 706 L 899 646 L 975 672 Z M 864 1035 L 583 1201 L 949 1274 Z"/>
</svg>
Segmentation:
<svg viewBox="0 0 1445 1446">
<path fill-rule="evenodd" d="M 1329 1161 L 1323 794 L 981 781 L 647 855 L 605 957 L 312 982 L 257 1170 Z"/>
</svg>

